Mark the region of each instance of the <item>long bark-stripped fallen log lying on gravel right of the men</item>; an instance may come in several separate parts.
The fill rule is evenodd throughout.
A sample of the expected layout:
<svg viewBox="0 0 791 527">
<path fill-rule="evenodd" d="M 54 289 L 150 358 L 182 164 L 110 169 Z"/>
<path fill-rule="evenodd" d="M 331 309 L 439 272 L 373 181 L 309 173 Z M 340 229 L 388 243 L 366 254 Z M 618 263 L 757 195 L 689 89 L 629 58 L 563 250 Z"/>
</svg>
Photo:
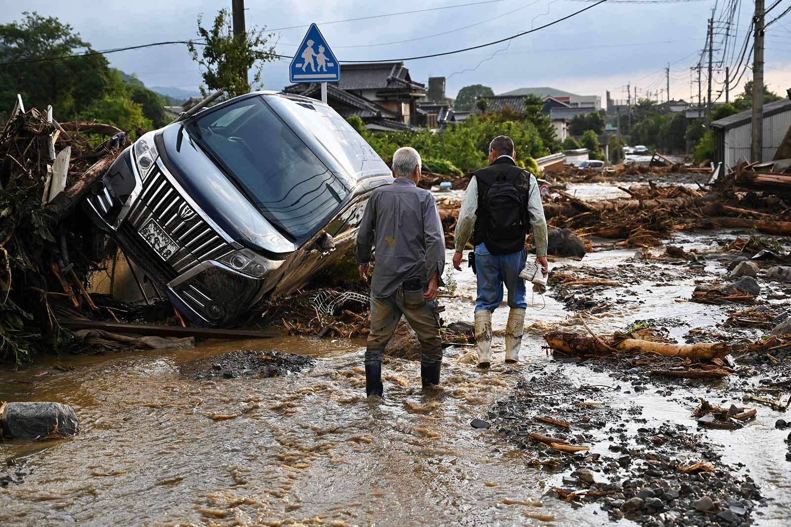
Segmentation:
<svg viewBox="0 0 791 527">
<path fill-rule="evenodd" d="M 609 356 L 612 354 L 607 344 L 593 337 L 570 332 L 548 332 L 544 335 L 549 347 L 554 351 L 570 355 Z M 640 339 L 623 339 L 612 345 L 618 351 L 631 354 L 655 353 L 666 357 L 690 359 L 725 357 L 731 353 L 727 343 L 669 344 Z"/>
</svg>

